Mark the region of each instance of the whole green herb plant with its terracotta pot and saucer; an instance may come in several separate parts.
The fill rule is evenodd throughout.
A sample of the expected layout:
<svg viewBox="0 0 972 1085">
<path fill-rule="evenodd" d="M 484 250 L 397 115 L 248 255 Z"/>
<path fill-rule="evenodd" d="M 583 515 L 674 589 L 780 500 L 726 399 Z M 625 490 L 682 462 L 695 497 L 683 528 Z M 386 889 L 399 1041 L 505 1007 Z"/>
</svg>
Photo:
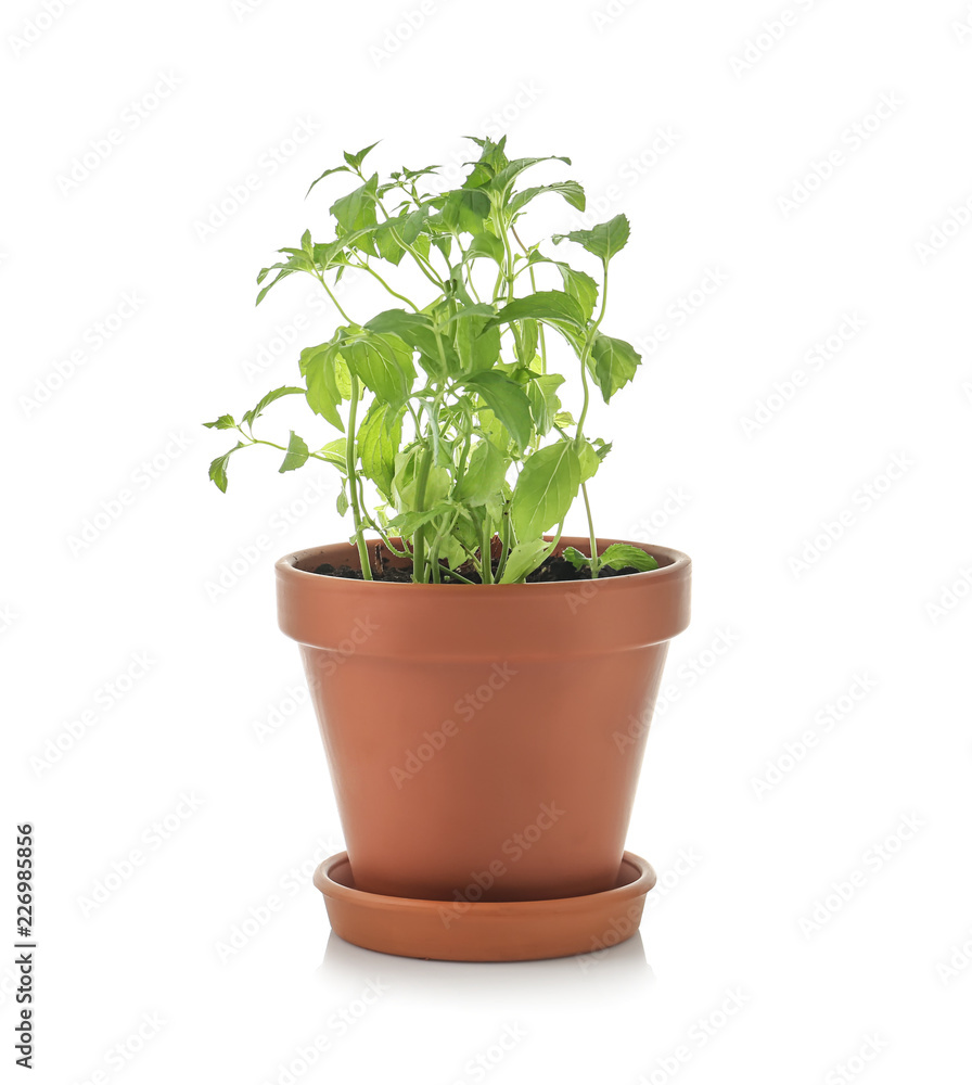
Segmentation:
<svg viewBox="0 0 972 1085">
<path fill-rule="evenodd" d="M 637 928 L 654 875 L 624 841 L 667 642 L 688 623 L 690 562 L 599 539 L 591 515 L 611 445 L 589 435 L 588 407 L 641 360 L 602 331 L 627 218 L 547 247 L 524 230 L 534 201 L 583 210 L 584 191 L 523 175 L 570 159 L 475 143 L 449 191 L 436 167 L 369 173 L 374 144 L 317 178 L 310 190 L 354 181 L 330 208 L 334 237 L 307 230 L 280 250 L 257 304 L 300 272 L 342 323 L 300 352 L 298 383 L 206 424 L 235 438 L 209 468 L 221 490 L 244 448 L 276 448 L 281 472 L 335 470 L 351 518 L 347 542 L 277 565 L 347 840 L 317 877 L 332 926 L 392 953 L 516 959 Z M 335 284 L 351 272 L 384 308 L 345 311 Z M 256 436 L 292 395 L 311 429 Z M 567 538 L 577 500 L 589 529 Z"/>
</svg>

